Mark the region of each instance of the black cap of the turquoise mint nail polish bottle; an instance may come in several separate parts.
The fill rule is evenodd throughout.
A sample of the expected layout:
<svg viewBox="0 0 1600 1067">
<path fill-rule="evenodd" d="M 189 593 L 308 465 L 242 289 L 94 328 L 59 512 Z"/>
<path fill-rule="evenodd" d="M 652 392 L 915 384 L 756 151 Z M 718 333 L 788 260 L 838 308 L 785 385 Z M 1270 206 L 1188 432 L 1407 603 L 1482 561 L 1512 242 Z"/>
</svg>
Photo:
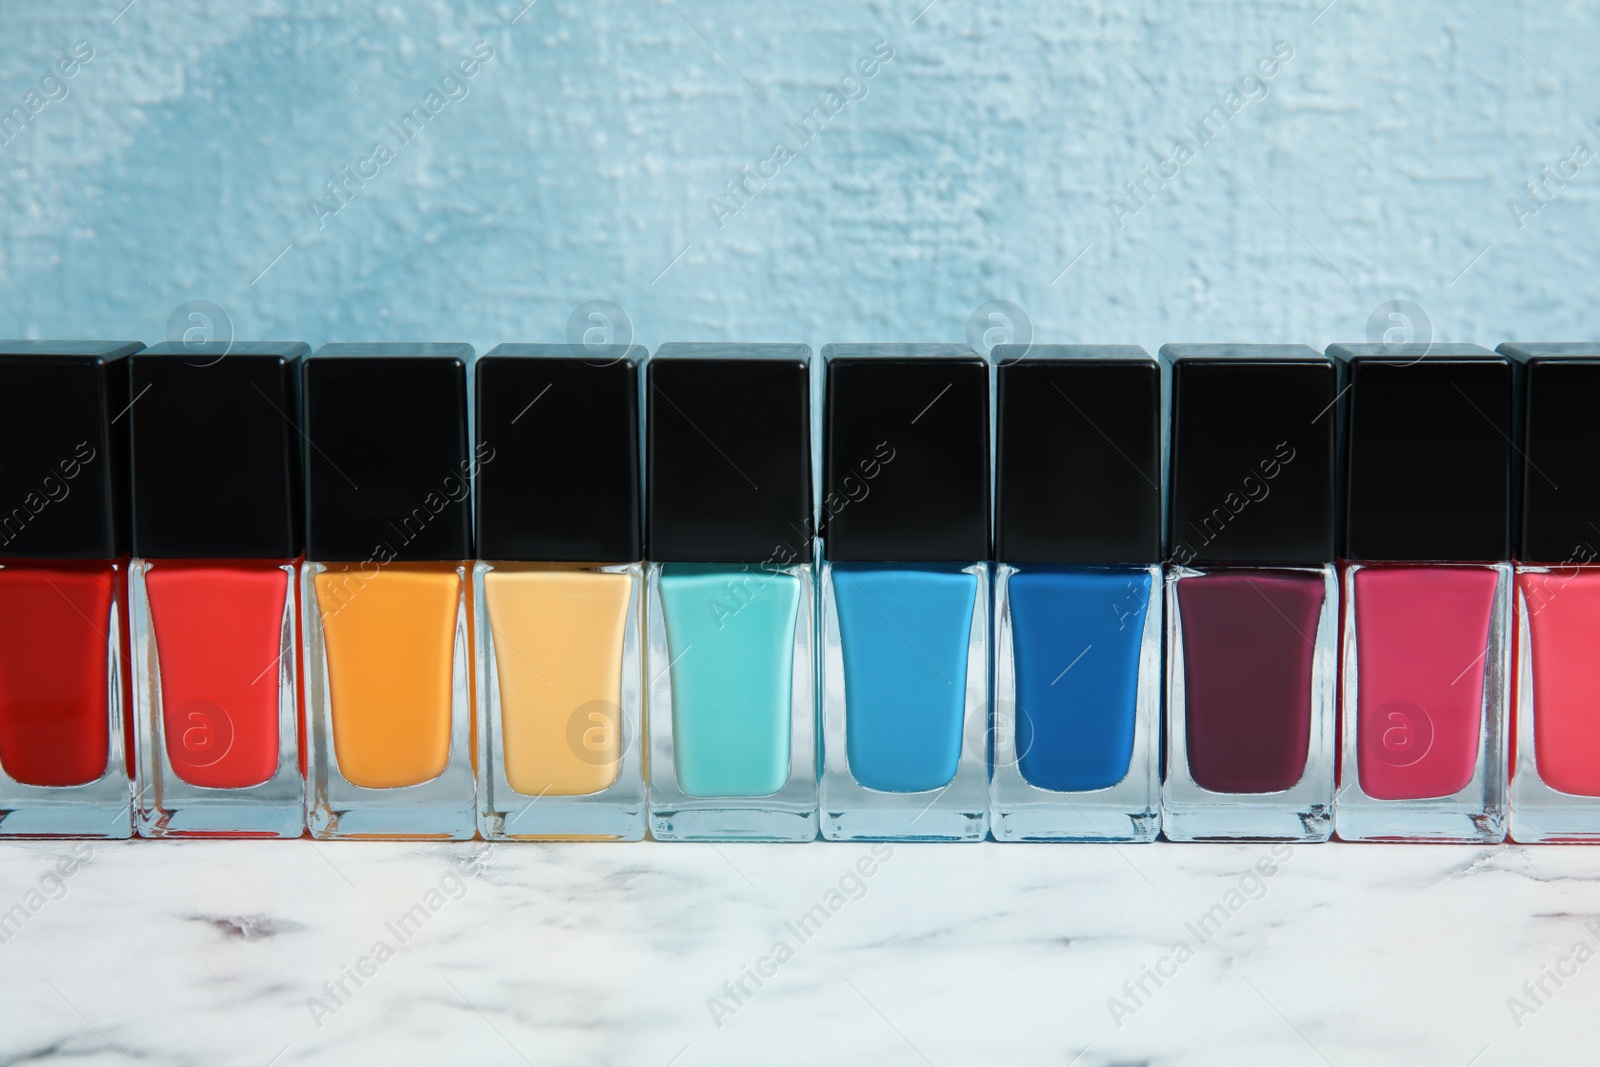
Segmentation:
<svg viewBox="0 0 1600 1067">
<path fill-rule="evenodd" d="M 664 344 L 645 366 L 650 558 L 808 563 L 810 346 Z"/>
</svg>

